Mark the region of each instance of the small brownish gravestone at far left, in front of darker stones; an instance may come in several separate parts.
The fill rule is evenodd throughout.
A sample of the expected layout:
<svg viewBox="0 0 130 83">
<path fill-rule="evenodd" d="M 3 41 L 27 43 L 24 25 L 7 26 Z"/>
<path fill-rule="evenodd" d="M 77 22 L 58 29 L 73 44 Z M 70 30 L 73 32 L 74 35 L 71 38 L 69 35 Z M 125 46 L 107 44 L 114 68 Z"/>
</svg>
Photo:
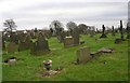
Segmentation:
<svg viewBox="0 0 130 83">
<path fill-rule="evenodd" d="M 6 46 L 8 53 L 15 53 L 17 52 L 17 44 L 15 42 L 10 42 Z"/>
</svg>

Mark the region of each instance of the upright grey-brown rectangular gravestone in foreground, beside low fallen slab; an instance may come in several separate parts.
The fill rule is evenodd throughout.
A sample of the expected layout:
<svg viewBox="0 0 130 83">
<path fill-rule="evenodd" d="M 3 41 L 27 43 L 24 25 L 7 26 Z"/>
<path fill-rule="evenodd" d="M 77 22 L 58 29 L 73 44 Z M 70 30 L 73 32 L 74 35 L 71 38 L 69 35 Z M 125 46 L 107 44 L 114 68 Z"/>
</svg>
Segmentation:
<svg viewBox="0 0 130 83">
<path fill-rule="evenodd" d="M 90 56 L 90 47 L 80 47 L 77 51 L 77 63 L 78 64 L 86 64 L 89 60 L 91 60 L 91 56 Z"/>
</svg>

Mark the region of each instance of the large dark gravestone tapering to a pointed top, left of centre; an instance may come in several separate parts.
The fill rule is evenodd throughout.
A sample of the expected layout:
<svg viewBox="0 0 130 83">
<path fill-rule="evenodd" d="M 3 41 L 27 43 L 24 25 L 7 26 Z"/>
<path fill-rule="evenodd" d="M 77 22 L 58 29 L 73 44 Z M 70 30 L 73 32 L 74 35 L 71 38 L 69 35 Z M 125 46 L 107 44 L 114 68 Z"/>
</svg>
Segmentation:
<svg viewBox="0 0 130 83">
<path fill-rule="evenodd" d="M 37 41 L 32 42 L 30 53 L 34 55 L 43 55 L 44 53 L 48 53 L 49 44 L 46 40 L 44 36 L 39 32 Z"/>
</svg>

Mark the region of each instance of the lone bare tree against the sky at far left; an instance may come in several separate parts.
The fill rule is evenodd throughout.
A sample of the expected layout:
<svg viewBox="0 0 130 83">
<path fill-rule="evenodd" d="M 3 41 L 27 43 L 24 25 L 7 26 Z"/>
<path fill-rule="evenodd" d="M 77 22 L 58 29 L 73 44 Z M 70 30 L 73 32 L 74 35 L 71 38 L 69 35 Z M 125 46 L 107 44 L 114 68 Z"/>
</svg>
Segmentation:
<svg viewBox="0 0 130 83">
<path fill-rule="evenodd" d="M 16 30 L 16 25 L 15 25 L 15 22 L 13 19 L 6 19 L 4 23 L 3 23 L 3 26 L 6 27 L 4 29 L 4 31 L 10 31 L 12 33 L 13 30 Z"/>
</svg>

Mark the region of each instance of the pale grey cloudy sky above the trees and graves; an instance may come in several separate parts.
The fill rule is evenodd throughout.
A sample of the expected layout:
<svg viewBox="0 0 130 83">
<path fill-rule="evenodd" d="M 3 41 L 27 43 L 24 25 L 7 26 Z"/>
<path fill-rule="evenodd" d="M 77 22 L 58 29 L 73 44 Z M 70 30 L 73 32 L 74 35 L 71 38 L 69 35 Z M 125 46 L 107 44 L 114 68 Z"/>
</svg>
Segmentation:
<svg viewBox="0 0 130 83">
<path fill-rule="evenodd" d="M 68 22 L 101 28 L 119 25 L 128 18 L 129 0 L 0 0 L 0 30 L 13 18 L 17 29 L 49 28 L 52 20 L 64 27 Z"/>
</svg>

